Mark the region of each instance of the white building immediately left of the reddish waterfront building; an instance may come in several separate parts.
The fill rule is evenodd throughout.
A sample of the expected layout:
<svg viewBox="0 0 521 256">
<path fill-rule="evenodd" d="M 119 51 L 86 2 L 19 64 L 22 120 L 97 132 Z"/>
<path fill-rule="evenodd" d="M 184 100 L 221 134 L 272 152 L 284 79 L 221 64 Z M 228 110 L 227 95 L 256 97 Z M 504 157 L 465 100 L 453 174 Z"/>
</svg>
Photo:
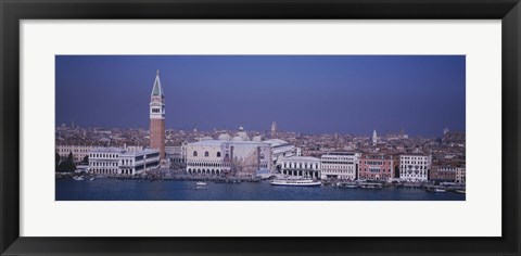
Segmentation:
<svg viewBox="0 0 521 256">
<path fill-rule="evenodd" d="M 330 152 L 322 155 L 320 157 L 321 178 L 356 180 L 360 156 L 360 153 L 353 152 Z"/>
</svg>

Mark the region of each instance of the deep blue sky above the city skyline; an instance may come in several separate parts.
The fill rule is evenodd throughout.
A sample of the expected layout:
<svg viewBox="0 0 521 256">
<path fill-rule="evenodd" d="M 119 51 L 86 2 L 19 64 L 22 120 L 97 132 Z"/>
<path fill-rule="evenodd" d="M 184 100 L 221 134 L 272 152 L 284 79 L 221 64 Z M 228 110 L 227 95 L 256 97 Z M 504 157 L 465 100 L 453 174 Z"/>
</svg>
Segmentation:
<svg viewBox="0 0 521 256">
<path fill-rule="evenodd" d="M 56 125 L 371 135 L 465 130 L 465 55 L 58 55 Z"/>
</svg>

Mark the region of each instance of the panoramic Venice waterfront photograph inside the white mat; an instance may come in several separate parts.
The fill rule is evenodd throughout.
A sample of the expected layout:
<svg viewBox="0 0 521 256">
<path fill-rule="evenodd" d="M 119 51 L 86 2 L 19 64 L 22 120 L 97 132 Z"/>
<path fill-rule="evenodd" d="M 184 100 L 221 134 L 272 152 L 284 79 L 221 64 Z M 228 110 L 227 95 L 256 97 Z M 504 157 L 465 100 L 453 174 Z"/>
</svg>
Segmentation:
<svg viewBox="0 0 521 256">
<path fill-rule="evenodd" d="M 466 55 L 55 55 L 55 201 L 466 201 Z"/>
</svg>

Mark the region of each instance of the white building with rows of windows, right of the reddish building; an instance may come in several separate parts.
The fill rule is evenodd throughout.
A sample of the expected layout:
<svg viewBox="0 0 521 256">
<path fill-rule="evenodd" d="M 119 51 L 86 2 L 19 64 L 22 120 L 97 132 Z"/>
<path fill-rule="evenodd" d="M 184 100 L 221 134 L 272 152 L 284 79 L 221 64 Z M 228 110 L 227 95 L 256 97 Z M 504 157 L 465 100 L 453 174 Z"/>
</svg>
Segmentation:
<svg viewBox="0 0 521 256">
<path fill-rule="evenodd" d="M 399 156 L 399 179 L 404 181 L 428 181 L 432 156 L 407 154 Z"/>
</svg>

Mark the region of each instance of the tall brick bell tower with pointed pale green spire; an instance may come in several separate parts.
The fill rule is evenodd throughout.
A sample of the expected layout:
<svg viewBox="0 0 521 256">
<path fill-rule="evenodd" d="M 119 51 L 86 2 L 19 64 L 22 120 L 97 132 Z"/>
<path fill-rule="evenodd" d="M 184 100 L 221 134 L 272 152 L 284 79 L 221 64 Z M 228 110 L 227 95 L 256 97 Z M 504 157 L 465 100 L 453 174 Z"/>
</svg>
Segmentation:
<svg viewBox="0 0 521 256">
<path fill-rule="evenodd" d="M 155 75 L 150 95 L 150 148 L 160 150 L 160 159 L 165 159 L 165 97 L 161 87 L 160 71 Z"/>
</svg>

